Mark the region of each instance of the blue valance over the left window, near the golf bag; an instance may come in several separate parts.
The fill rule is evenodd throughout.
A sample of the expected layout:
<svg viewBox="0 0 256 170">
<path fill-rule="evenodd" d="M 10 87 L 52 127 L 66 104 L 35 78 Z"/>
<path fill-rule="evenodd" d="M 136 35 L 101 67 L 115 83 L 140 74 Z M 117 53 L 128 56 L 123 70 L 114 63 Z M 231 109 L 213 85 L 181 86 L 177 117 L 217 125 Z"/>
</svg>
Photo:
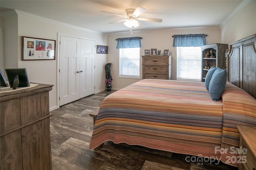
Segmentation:
<svg viewBox="0 0 256 170">
<path fill-rule="evenodd" d="M 140 37 L 127 37 L 117 39 L 117 49 L 141 47 Z"/>
</svg>

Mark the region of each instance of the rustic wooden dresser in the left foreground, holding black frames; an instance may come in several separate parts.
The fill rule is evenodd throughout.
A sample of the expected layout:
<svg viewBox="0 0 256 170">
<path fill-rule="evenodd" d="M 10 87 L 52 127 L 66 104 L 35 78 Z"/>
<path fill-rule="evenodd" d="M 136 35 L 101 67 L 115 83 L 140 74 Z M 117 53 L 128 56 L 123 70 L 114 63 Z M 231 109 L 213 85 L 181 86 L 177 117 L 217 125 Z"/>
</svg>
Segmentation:
<svg viewBox="0 0 256 170">
<path fill-rule="evenodd" d="M 52 85 L 0 94 L 1 170 L 51 170 Z"/>
</svg>

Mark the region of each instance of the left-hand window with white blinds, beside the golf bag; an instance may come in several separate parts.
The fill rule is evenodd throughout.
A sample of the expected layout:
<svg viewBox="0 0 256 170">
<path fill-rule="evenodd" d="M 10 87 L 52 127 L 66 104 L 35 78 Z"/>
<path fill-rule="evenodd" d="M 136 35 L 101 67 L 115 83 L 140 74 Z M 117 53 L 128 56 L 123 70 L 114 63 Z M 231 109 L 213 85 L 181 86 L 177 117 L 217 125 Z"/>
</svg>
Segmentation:
<svg viewBox="0 0 256 170">
<path fill-rule="evenodd" d="M 119 77 L 140 78 L 140 47 L 119 49 Z"/>
</svg>

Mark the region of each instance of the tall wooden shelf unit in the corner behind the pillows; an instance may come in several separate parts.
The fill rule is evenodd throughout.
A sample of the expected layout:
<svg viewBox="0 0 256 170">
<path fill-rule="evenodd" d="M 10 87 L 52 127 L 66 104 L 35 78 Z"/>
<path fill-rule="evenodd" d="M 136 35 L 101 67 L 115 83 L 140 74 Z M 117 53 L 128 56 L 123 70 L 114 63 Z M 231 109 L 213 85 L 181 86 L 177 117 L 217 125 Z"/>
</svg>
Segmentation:
<svg viewBox="0 0 256 170">
<path fill-rule="evenodd" d="M 201 81 L 204 82 L 205 76 L 211 66 L 214 66 L 216 68 L 220 67 L 222 69 L 226 68 L 226 49 L 228 49 L 228 44 L 210 44 L 210 45 L 204 45 L 201 47 L 202 49 L 202 74 L 201 74 Z M 210 54 L 208 57 L 205 57 L 205 55 L 210 52 L 210 50 L 215 54 L 215 57 L 211 58 Z M 207 65 L 206 64 L 209 65 Z"/>
</svg>

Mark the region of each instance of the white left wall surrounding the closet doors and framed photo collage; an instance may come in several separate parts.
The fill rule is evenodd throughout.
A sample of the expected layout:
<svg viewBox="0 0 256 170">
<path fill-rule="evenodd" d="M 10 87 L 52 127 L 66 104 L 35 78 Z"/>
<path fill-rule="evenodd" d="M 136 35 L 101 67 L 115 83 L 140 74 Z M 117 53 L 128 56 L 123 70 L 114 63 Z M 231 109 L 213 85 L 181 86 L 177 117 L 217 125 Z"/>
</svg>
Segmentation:
<svg viewBox="0 0 256 170">
<path fill-rule="evenodd" d="M 30 82 L 54 85 L 50 91 L 50 110 L 56 109 L 58 106 L 58 33 L 95 39 L 98 45 L 107 45 L 107 35 L 45 20 L 23 12 L 17 11 L 17 13 L 18 15 L 15 13 L 4 16 L 4 23 L 1 21 L 5 35 L 4 67 L 27 68 Z M 56 40 L 56 60 L 22 61 L 22 36 Z M 104 66 L 107 63 L 107 57 L 106 54 L 96 54 L 95 93 L 105 90 L 103 82 L 105 82 Z"/>
</svg>

